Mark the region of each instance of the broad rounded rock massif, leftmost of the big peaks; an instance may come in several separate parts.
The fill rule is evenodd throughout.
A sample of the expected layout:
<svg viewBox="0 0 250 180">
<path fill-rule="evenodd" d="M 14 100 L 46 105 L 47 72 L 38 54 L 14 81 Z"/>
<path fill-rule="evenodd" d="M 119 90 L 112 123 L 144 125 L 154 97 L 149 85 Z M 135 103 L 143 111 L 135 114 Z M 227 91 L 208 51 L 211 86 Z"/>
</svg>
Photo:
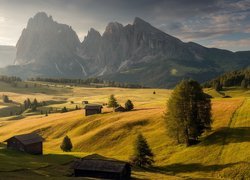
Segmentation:
<svg viewBox="0 0 250 180">
<path fill-rule="evenodd" d="M 84 62 L 77 55 L 80 41 L 75 31 L 45 13 L 29 19 L 16 47 L 15 65 L 29 65 L 41 74 L 87 75 Z"/>
</svg>

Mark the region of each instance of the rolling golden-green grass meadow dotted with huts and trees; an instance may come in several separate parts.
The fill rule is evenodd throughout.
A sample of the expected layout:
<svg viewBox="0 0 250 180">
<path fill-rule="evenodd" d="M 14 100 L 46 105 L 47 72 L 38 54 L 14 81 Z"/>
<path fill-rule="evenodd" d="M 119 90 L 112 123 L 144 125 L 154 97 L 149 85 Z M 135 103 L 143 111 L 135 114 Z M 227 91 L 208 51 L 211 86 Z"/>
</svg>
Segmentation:
<svg viewBox="0 0 250 180">
<path fill-rule="evenodd" d="M 222 98 L 214 90 L 212 95 L 212 131 L 202 137 L 198 145 L 175 145 L 168 138 L 162 118 L 171 90 L 84 88 L 39 85 L 18 88 L 0 84 L 0 94 L 6 94 L 16 104 L 27 97 L 38 101 L 53 101 L 46 108 L 81 107 L 83 100 L 106 103 L 114 94 L 121 105 L 132 100 L 135 109 L 115 113 L 105 107 L 103 114 L 85 117 L 83 110 L 53 113 L 47 117 L 23 113 L 9 117 L 6 111 L 16 105 L 0 102 L 0 142 L 23 133 L 38 132 L 46 140 L 44 156 L 32 156 L 8 151 L 0 147 L 0 179 L 23 178 L 70 179 L 69 163 L 75 157 L 98 153 L 127 161 L 139 132 L 147 139 L 155 164 L 152 169 L 133 169 L 137 179 L 249 179 L 250 178 L 250 93 L 238 88 L 228 89 Z M 153 94 L 153 91 L 156 94 Z M 71 101 L 74 103 L 72 104 Z M 9 108 L 9 109 L 8 109 Z M 73 151 L 64 153 L 60 143 L 68 135 Z M 2 146 L 3 147 L 3 146 Z"/>
</svg>

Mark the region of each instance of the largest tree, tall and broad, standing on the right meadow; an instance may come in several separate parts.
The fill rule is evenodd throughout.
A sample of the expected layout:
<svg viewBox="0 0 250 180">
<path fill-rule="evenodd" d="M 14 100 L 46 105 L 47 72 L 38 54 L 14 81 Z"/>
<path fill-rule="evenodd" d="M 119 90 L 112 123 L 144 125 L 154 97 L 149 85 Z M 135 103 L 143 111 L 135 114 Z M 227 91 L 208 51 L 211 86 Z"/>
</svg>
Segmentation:
<svg viewBox="0 0 250 180">
<path fill-rule="evenodd" d="M 167 133 L 178 143 L 189 146 L 205 130 L 211 129 L 211 102 L 196 81 L 183 80 L 176 86 L 166 112 Z"/>
</svg>

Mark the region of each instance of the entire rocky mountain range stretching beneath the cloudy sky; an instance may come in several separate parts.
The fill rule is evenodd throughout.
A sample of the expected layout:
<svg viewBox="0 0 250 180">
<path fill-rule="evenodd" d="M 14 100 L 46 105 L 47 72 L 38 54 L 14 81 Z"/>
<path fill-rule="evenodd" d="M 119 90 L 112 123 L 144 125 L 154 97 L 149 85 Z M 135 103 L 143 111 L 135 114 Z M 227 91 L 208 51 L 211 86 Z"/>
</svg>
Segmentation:
<svg viewBox="0 0 250 180">
<path fill-rule="evenodd" d="M 111 22 L 103 34 L 90 28 L 81 42 L 68 25 L 44 12 L 30 18 L 16 45 L 14 64 L 0 73 L 26 77 L 100 77 L 151 87 L 183 78 L 200 82 L 250 64 L 250 51 L 231 52 L 183 42 L 136 17 Z"/>
</svg>

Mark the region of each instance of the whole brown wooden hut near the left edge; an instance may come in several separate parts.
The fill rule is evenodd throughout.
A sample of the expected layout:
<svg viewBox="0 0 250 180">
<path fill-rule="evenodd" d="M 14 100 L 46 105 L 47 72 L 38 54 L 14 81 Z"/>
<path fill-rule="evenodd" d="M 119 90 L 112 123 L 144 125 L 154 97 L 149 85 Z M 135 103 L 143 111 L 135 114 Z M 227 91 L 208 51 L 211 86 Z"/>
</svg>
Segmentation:
<svg viewBox="0 0 250 180">
<path fill-rule="evenodd" d="M 13 136 L 4 142 L 7 142 L 8 149 L 35 155 L 43 154 L 43 138 L 35 133 Z"/>
</svg>

